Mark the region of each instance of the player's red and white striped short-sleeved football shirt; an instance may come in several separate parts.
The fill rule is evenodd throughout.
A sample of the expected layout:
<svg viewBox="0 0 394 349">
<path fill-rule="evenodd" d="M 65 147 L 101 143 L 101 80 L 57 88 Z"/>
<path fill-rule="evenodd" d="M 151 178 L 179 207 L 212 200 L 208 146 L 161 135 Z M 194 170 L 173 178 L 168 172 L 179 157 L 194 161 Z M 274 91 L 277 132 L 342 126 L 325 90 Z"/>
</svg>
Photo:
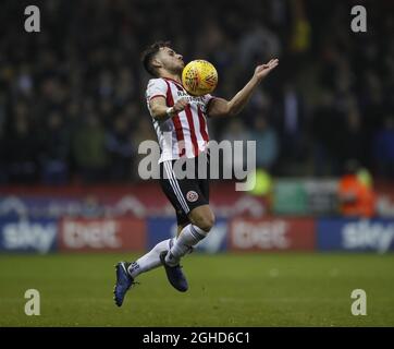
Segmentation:
<svg viewBox="0 0 394 349">
<path fill-rule="evenodd" d="M 155 97 L 164 97 L 167 105 L 172 107 L 178 99 L 186 98 L 186 108 L 164 121 L 152 117 L 161 149 L 159 163 L 196 157 L 208 147 L 207 106 L 213 98 L 211 95 L 190 96 L 181 83 L 172 79 L 151 79 L 146 91 L 148 109 L 149 101 Z"/>
</svg>

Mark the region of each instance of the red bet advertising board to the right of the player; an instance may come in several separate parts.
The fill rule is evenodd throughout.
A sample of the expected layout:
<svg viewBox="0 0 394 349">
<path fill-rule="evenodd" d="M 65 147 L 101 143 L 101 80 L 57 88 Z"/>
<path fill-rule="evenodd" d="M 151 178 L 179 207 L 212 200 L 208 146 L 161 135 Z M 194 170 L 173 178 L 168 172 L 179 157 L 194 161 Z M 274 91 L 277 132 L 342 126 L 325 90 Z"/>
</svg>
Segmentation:
<svg viewBox="0 0 394 349">
<path fill-rule="evenodd" d="M 231 251 L 312 251 L 316 246 L 311 218 L 234 218 L 229 230 Z"/>
</svg>

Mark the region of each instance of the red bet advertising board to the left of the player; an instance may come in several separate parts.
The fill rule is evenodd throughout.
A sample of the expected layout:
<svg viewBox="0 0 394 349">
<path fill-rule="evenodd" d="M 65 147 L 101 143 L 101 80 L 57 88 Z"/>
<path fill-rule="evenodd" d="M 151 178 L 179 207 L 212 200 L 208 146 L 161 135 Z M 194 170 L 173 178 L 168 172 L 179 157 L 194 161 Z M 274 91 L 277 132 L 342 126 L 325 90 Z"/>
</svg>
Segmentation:
<svg viewBox="0 0 394 349">
<path fill-rule="evenodd" d="M 144 251 L 146 222 L 138 218 L 63 218 L 60 251 Z"/>
</svg>

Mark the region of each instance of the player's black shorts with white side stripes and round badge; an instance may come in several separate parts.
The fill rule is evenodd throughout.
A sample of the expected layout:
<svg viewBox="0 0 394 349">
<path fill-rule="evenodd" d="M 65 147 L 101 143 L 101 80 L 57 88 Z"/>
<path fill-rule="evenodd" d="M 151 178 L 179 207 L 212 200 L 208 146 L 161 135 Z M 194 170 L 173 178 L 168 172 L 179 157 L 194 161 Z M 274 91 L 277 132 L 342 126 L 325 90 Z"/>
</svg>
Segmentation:
<svg viewBox="0 0 394 349">
<path fill-rule="evenodd" d="M 160 163 L 160 185 L 175 208 L 177 225 L 183 226 L 189 222 L 187 215 L 193 208 L 209 204 L 209 154 L 202 153 L 195 158 L 184 158 L 182 166 L 175 165 L 175 161 Z M 198 172 L 198 163 L 206 164 L 200 172 Z M 189 166 L 194 172 L 194 178 L 177 176 L 177 169 L 181 168 L 185 173 L 186 166 Z"/>
</svg>

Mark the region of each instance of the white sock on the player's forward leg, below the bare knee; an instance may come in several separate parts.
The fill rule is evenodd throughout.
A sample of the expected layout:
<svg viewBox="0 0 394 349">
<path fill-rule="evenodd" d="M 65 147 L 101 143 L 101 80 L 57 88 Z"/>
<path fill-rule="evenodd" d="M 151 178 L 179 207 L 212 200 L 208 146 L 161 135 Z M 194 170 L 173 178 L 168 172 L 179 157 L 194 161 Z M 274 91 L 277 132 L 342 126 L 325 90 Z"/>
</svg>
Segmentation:
<svg viewBox="0 0 394 349">
<path fill-rule="evenodd" d="M 207 233 L 207 231 L 204 231 L 192 224 L 183 228 L 175 243 L 167 254 L 165 263 L 169 265 L 176 265 L 180 262 L 180 258 L 183 257 L 192 246 L 200 242 Z"/>
</svg>

